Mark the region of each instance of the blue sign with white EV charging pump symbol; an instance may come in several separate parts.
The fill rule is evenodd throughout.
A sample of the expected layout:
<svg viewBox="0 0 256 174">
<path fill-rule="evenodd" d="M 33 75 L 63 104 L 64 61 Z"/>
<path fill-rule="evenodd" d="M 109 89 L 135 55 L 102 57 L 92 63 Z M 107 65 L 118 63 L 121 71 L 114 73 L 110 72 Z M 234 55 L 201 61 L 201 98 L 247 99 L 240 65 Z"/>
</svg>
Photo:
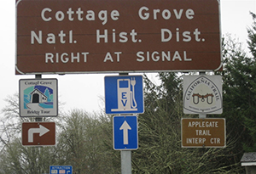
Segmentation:
<svg viewBox="0 0 256 174">
<path fill-rule="evenodd" d="M 105 76 L 107 114 L 144 112 L 143 76 Z"/>
</svg>

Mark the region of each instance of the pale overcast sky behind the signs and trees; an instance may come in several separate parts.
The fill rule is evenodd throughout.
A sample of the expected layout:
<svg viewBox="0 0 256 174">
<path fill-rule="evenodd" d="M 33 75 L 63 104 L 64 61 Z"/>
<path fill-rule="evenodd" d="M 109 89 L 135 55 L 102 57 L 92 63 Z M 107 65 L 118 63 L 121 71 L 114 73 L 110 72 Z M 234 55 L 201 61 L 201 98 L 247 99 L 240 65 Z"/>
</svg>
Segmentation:
<svg viewBox="0 0 256 174">
<path fill-rule="evenodd" d="M 230 33 L 244 42 L 246 48 L 247 27 L 253 23 L 249 12 L 256 14 L 256 0 L 221 0 L 220 8 L 222 34 Z M 19 80 L 34 76 L 15 76 L 15 0 L 2 1 L 0 21 L 0 109 L 3 109 L 6 105 L 3 99 L 18 93 Z M 104 76 L 106 75 L 44 75 L 43 78 L 58 79 L 59 100 L 66 103 L 65 111 L 78 108 L 92 112 L 104 106 L 101 99 L 104 98 Z M 150 73 L 149 76 L 153 77 L 155 74 Z"/>
</svg>

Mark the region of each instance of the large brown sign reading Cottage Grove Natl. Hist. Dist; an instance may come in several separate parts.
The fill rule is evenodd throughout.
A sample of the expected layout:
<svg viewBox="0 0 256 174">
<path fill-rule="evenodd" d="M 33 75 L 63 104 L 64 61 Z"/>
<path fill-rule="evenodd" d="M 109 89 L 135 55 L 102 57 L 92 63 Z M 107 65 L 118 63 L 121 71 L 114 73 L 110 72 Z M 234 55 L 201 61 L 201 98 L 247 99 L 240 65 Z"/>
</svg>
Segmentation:
<svg viewBox="0 0 256 174">
<path fill-rule="evenodd" d="M 16 74 L 218 70 L 217 0 L 16 0 Z"/>
</svg>

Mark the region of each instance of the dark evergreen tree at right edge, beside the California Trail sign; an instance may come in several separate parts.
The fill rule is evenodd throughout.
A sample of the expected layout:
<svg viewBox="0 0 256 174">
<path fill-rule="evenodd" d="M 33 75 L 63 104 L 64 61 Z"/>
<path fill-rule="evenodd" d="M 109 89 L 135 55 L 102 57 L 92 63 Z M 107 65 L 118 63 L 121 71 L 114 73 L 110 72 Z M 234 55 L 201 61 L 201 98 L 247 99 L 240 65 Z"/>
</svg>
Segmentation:
<svg viewBox="0 0 256 174">
<path fill-rule="evenodd" d="M 244 151 L 256 151 L 256 22 L 248 29 L 248 56 L 241 49 L 241 43 L 231 38 L 224 41 L 224 114 L 227 129 L 233 138 L 239 138 L 235 154 L 238 158 Z"/>
</svg>

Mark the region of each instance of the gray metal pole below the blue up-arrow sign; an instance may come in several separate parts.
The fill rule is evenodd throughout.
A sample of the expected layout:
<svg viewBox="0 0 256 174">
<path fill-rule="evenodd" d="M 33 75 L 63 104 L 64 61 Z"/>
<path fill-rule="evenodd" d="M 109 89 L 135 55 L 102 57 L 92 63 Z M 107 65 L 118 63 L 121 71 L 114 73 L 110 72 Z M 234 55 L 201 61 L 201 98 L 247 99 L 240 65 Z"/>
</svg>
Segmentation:
<svg viewBox="0 0 256 174">
<path fill-rule="evenodd" d="M 121 151 L 121 174 L 131 174 L 131 150 Z"/>
</svg>

